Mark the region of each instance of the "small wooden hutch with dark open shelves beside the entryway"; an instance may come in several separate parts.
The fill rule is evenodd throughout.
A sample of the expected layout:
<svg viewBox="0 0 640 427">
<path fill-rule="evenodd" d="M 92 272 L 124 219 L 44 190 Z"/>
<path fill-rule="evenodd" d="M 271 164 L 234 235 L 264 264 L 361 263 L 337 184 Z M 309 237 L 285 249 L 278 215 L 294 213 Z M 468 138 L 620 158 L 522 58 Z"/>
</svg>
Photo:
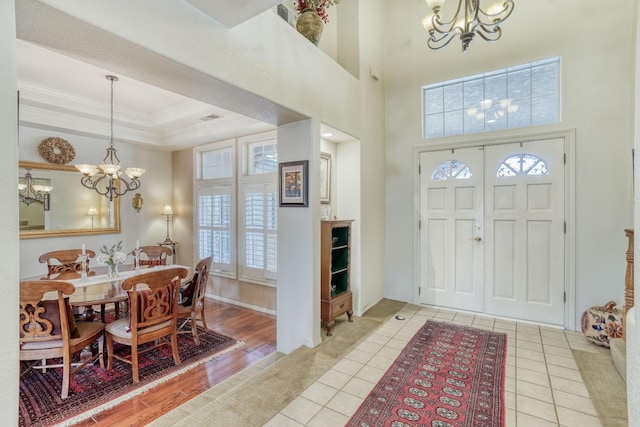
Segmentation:
<svg viewBox="0 0 640 427">
<path fill-rule="evenodd" d="M 352 322 L 350 284 L 351 223 L 353 220 L 322 221 L 320 263 L 320 317 L 327 336 L 335 318 L 347 314 Z"/>
</svg>

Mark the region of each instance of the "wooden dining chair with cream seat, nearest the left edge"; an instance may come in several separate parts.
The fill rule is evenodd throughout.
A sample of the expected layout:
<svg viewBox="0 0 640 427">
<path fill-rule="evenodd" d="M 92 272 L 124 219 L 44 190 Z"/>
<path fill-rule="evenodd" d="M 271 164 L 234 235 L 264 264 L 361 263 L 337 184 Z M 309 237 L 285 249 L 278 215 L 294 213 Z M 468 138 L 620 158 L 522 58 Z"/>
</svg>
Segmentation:
<svg viewBox="0 0 640 427">
<path fill-rule="evenodd" d="M 20 361 L 42 360 L 41 365 L 31 365 L 20 374 L 31 369 L 62 367 L 62 390 L 60 397 L 69 396 L 69 383 L 78 369 L 100 359 L 102 356 L 102 333 L 104 323 L 74 322 L 68 298 L 74 286 L 58 280 L 34 280 L 20 283 Z M 56 299 L 43 300 L 45 293 L 57 294 Z M 73 354 L 90 348 L 98 341 L 98 353 L 84 361 L 72 364 Z M 47 365 L 47 359 L 62 358 L 62 364 Z"/>
</svg>

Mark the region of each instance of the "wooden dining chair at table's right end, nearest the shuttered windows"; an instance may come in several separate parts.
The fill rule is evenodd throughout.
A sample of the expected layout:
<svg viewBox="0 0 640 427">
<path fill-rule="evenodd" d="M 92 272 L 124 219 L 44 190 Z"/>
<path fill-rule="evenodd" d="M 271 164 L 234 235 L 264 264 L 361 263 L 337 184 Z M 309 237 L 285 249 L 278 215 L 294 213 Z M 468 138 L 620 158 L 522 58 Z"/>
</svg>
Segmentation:
<svg viewBox="0 0 640 427">
<path fill-rule="evenodd" d="M 204 301 L 207 292 L 207 281 L 213 257 L 208 257 L 196 264 L 193 277 L 183 284 L 180 292 L 182 298 L 178 305 L 179 334 L 192 334 L 196 345 L 200 344 L 198 338 L 198 315 L 205 331 L 208 331 L 207 321 L 204 318 Z"/>
</svg>

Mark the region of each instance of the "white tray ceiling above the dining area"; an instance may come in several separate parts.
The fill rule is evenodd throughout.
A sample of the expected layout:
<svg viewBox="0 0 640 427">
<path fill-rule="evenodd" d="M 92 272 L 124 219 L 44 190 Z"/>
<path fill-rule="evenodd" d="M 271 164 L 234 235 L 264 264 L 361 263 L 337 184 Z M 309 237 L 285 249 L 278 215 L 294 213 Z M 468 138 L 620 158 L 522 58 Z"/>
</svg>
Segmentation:
<svg viewBox="0 0 640 427">
<path fill-rule="evenodd" d="M 109 131 L 114 74 L 48 49 L 17 41 L 20 121 L 52 131 L 104 137 Z M 273 125 L 117 75 L 114 134 L 128 143 L 176 150 Z"/>
</svg>

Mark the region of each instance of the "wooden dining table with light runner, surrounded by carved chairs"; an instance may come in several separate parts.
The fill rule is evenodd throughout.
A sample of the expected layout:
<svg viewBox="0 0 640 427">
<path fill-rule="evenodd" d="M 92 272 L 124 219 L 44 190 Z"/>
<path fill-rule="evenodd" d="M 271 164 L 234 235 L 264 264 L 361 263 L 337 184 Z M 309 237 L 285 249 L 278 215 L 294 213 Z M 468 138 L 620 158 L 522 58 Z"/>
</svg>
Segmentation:
<svg viewBox="0 0 640 427">
<path fill-rule="evenodd" d="M 82 277 L 82 272 L 80 271 L 62 271 L 54 274 L 28 277 L 22 279 L 22 281 L 60 280 L 69 282 L 75 288 L 75 291 L 69 295 L 69 303 L 73 307 L 83 309 L 79 320 L 93 321 L 95 318 L 93 306 L 99 305 L 101 320 L 106 323 L 105 308 L 107 304 L 114 304 L 116 319 L 120 316 L 121 303 L 124 303 L 122 304 L 123 312 L 126 313 L 128 311 L 128 294 L 126 290 L 122 289 L 122 284 L 126 279 L 137 274 L 176 267 L 186 268 L 189 271 L 187 278 L 193 273 L 192 267 L 176 264 L 141 266 L 137 269 L 133 264 L 123 264 L 118 267 L 118 274 L 115 277 L 107 276 L 107 268 L 99 266 L 87 271 L 86 277 Z M 44 299 L 49 298 L 55 299 L 57 296 L 45 294 Z"/>
</svg>

